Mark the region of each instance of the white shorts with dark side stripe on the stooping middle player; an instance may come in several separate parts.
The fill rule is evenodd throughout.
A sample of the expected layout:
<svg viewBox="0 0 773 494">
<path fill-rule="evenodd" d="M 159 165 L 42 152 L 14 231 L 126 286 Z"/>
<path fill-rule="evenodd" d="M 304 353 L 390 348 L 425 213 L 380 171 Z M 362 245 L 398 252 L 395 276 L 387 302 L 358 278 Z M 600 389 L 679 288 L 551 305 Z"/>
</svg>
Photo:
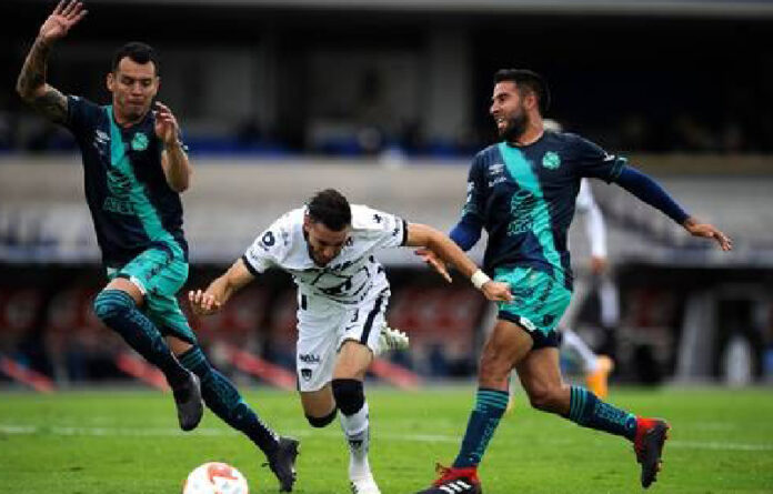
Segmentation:
<svg viewBox="0 0 773 494">
<path fill-rule="evenodd" d="M 344 306 L 327 299 L 299 295 L 295 369 L 298 390 L 318 391 L 333 379 L 341 345 L 354 340 L 375 353 L 381 329 L 386 324 L 389 289 L 357 305 Z"/>
</svg>

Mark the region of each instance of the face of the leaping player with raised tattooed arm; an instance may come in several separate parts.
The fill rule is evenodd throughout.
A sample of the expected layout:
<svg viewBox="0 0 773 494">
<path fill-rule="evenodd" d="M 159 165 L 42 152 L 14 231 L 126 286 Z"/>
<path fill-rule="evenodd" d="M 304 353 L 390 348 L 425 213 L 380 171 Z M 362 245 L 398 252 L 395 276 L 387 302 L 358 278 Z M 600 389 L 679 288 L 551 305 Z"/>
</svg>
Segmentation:
<svg viewBox="0 0 773 494">
<path fill-rule="evenodd" d="M 113 110 L 118 118 L 129 122 L 141 120 L 159 92 L 155 64 L 122 58 L 116 72 L 108 74 L 108 89 L 113 94 Z"/>
</svg>

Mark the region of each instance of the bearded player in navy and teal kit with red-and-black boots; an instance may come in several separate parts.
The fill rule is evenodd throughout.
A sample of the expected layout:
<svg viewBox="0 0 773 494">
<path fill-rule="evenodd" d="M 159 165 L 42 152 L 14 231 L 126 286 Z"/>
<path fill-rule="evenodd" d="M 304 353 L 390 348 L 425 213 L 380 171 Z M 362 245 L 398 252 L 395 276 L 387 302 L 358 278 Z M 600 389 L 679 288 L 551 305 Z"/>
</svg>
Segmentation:
<svg viewBox="0 0 773 494">
<path fill-rule="evenodd" d="M 478 465 L 508 405 L 512 370 L 535 409 L 633 442 L 642 486 L 654 482 L 669 424 L 635 416 L 561 377 L 555 326 L 572 294 L 566 232 L 582 178 L 615 182 L 690 234 L 713 239 L 723 251 L 732 249 L 724 233 L 685 213 L 625 159 L 579 135 L 545 131 L 542 114 L 548 104 L 548 88 L 536 73 L 505 69 L 494 75 L 490 113 L 502 142 L 474 158 L 462 219 L 451 238 L 466 250 L 485 229 L 484 270 L 510 283 L 514 301 L 500 303 L 483 347 L 475 405 L 459 454 L 451 467 L 440 467 L 440 477 L 421 494 L 482 492 Z M 438 265 L 431 253 L 421 254 Z"/>
</svg>

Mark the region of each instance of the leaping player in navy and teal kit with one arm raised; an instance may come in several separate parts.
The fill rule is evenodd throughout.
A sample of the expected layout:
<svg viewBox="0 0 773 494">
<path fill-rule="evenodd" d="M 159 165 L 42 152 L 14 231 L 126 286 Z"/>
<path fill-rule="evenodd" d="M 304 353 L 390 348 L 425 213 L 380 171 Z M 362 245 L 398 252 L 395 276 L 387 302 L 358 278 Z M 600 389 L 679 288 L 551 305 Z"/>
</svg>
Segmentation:
<svg viewBox="0 0 773 494">
<path fill-rule="evenodd" d="M 280 437 L 215 371 L 180 311 L 177 292 L 188 278 L 180 192 L 191 165 L 172 111 L 155 103 L 159 61 L 143 43 L 120 48 L 107 74 L 112 104 L 64 97 L 46 81 L 46 59 L 87 11 L 60 2 L 40 28 L 19 75 L 22 99 L 67 127 L 82 153 L 86 198 L 109 282 L 94 312 L 129 345 L 159 367 L 173 390 L 180 426 L 193 430 L 203 402 L 267 455 L 280 487 L 290 492 L 298 442 Z"/>
</svg>

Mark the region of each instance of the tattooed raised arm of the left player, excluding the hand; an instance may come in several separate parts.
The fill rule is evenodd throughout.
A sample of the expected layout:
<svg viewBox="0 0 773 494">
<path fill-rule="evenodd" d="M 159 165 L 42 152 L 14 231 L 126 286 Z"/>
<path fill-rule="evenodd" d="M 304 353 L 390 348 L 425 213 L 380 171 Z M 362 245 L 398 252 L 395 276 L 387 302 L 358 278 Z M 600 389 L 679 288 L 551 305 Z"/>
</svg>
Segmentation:
<svg viewBox="0 0 773 494">
<path fill-rule="evenodd" d="M 46 59 L 49 44 L 38 38 L 32 46 L 17 80 L 17 92 L 32 108 L 49 120 L 63 123 L 67 120 L 67 98 L 46 83 Z"/>
</svg>

